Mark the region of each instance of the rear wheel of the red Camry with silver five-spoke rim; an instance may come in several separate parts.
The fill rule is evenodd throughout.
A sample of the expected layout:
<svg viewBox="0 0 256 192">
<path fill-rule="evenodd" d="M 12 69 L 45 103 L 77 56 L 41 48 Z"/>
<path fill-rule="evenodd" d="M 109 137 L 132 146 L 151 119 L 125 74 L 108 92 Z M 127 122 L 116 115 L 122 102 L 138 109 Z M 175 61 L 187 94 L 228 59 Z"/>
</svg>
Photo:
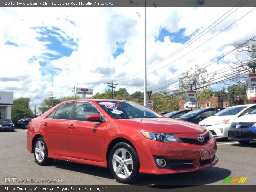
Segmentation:
<svg viewBox="0 0 256 192">
<path fill-rule="evenodd" d="M 41 152 L 44 153 L 44 156 L 42 156 Z M 52 163 L 53 159 L 48 158 L 48 149 L 42 137 L 38 138 L 34 144 L 34 157 L 38 165 L 48 165 Z"/>
</svg>

